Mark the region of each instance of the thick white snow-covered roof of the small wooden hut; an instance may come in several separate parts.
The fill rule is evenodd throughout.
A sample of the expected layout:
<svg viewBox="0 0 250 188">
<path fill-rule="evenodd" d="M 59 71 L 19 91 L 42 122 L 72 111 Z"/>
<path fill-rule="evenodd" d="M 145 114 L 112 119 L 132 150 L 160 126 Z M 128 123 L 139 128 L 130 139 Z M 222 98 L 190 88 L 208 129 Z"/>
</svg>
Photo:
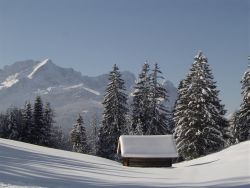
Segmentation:
<svg viewBox="0 0 250 188">
<path fill-rule="evenodd" d="M 122 135 L 117 151 L 122 157 L 175 158 L 178 157 L 172 135 Z"/>
</svg>

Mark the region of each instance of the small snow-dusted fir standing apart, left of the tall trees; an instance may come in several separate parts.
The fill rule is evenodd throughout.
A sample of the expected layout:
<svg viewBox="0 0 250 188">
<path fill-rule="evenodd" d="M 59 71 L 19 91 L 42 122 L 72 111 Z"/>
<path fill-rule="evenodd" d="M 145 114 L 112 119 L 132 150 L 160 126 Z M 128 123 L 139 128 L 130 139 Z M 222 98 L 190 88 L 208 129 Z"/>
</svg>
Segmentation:
<svg viewBox="0 0 250 188">
<path fill-rule="evenodd" d="M 70 132 L 70 140 L 72 143 L 72 149 L 74 152 L 78 153 L 88 153 L 88 144 L 86 130 L 83 126 L 82 116 L 79 114 L 76 124 L 74 125 L 72 131 Z"/>
</svg>

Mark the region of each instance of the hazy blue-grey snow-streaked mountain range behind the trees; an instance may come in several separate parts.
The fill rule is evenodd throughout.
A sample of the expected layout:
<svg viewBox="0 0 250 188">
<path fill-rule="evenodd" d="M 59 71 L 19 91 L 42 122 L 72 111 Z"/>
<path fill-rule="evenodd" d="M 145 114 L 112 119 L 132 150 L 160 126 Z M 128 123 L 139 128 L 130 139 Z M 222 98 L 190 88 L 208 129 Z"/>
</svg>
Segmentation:
<svg viewBox="0 0 250 188">
<path fill-rule="evenodd" d="M 133 91 L 135 76 L 122 72 L 128 92 Z M 41 95 L 56 111 L 56 121 L 63 128 L 72 127 L 78 113 L 101 114 L 103 94 L 108 75 L 83 76 L 72 68 L 62 68 L 50 59 L 20 61 L 0 69 L 0 112 L 11 105 L 21 107 L 25 101 Z M 173 106 L 177 90 L 170 81 L 164 85 L 169 91 L 169 105 Z"/>
</svg>

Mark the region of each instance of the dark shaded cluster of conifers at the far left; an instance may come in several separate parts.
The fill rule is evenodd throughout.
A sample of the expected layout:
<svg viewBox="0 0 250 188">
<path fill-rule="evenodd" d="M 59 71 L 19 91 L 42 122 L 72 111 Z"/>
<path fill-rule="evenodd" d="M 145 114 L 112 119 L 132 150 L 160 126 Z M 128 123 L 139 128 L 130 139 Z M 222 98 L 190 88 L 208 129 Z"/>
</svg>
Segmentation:
<svg viewBox="0 0 250 188">
<path fill-rule="evenodd" d="M 34 104 L 11 107 L 0 114 L 0 137 L 53 148 L 66 148 L 60 127 L 54 126 L 54 111 L 37 96 Z"/>
</svg>

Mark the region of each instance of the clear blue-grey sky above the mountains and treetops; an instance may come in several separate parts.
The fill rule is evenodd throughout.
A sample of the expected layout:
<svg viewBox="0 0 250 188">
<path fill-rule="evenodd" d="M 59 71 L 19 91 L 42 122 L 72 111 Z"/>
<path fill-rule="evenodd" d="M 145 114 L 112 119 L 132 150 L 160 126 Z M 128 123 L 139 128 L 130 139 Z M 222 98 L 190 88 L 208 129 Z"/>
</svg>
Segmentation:
<svg viewBox="0 0 250 188">
<path fill-rule="evenodd" d="M 176 86 L 202 50 L 229 111 L 250 54 L 249 0 L 0 0 L 0 68 L 50 58 L 84 75 L 158 62 Z"/>
</svg>

